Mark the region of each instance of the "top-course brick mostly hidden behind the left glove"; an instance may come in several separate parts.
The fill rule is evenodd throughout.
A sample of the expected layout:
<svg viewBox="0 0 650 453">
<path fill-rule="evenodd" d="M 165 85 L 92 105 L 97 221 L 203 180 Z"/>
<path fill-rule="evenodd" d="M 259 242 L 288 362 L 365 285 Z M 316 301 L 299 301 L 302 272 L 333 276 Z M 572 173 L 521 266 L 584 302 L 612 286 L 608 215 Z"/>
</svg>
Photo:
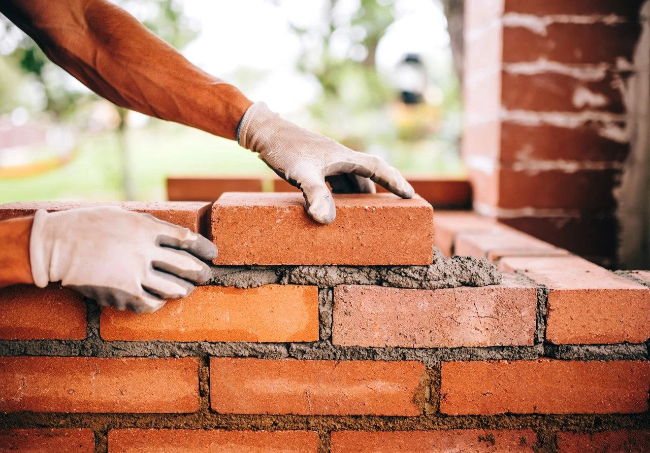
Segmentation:
<svg viewBox="0 0 650 453">
<path fill-rule="evenodd" d="M 122 208 L 146 212 L 162 221 L 174 223 L 181 227 L 189 228 L 193 232 L 200 232 L 205 236 L 209 233 L 205 227 L 210 222 L 210 204 L 206 202 L 67 202 L 67 201 L 34 201 L 0 204 L 0 221 L 32 215 L 39 209 L 48 212 L 65 211 L 75 208 L 88 208 L 90 206 L 121 206 Z"/>
</svg>

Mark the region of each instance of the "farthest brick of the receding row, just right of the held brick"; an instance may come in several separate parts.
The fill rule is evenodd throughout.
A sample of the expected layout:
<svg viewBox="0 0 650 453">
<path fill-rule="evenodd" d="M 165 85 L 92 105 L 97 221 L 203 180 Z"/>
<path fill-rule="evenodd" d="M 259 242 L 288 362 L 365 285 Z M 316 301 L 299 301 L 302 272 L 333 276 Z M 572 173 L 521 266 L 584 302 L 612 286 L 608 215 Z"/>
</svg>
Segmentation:
<svg viewBox="0 0 650 453">
<path fill-rule="evenodd" d="M 482 217 L 474 212 L 436 211 L 434 215 L 434 245 L 445 256 L 454 253 L 454 241 L 459 232 L 489 231 L 498 228 L 491 217 Z"/>
</svg>

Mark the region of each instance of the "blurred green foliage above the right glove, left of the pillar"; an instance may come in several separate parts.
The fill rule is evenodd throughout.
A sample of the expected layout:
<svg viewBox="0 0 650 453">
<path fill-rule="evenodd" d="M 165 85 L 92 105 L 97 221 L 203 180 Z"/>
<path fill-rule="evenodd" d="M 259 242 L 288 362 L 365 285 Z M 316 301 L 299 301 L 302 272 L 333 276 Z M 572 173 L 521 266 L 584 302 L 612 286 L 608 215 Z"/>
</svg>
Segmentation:
<svg viewBox="0 0 650 453">
<path fill-rule="evenodd" d="M 322 24 L 311 29 L 292 25 L 302 41 L 298 69 L 313 75 L 322 87 L 322 95 L 309 106 L 320 132 L 355 149 L 378 145 L 391 160 L 398 160 L 394 154 L 403 149 L 398 141 L 415 143 L 435 135 L 456 147 L 461 102 L 454 67 L 425 62 L 435 66 L 426 67 L 427 79 L 441 99 L 413 108 L 398 100 L 395 80 L 386 80 L 378 71 L 376 50 L 396 20 L 395 0 L 359 0 L 356 10 L 344 14 L 339 6 L 349 2 L 324 3 Z M 346 53 L 337 45 L 341 41 L 347 44 Z"/>
</svg>

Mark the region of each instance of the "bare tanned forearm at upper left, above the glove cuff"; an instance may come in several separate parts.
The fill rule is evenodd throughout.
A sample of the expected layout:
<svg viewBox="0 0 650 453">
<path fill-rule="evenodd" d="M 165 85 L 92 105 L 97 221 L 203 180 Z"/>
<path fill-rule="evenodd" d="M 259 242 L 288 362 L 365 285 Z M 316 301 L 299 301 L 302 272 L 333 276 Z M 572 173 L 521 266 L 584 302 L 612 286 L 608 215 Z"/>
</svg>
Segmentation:
<svg viewBox="0 0 650 453">
<path fill-rule="evenodd" d="M 4 0 L 0 12 L 119 106 L 234 139 L 252 104 L 106 0 Z"/>
</svg>

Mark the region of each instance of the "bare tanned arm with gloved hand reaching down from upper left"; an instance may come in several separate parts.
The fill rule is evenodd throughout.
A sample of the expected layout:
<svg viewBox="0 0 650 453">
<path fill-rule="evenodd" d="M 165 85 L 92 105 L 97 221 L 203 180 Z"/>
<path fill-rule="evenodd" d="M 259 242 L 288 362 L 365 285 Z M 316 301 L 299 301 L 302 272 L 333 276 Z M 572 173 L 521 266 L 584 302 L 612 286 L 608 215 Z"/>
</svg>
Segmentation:
<svg viewBox="0 0 650 453">
<path fill-rule="evenodd" d="M 370 178 L 401 197 L 413 196 L 408 182 L 380 158 L 281 119 L 263 103 L 253 104 L 106 0 L 4 0 L 0 11 L 53 62 L 109 101 L 236 139 L 259 153 L 303 191 L 307 212 L 320 223 L 335 217 L 326 178 L 335 191 L 373 192 Z"/>
</svg>

